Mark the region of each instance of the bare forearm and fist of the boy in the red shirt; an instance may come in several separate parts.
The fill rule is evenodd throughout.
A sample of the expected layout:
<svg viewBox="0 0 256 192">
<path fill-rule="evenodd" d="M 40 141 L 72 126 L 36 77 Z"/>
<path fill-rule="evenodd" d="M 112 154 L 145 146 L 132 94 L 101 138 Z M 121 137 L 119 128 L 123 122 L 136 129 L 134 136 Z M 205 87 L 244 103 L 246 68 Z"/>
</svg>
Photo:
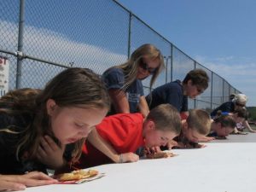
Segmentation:
<svg viewBox="0 0 256 192">
<path fill-rule="evenodd" d="M 98 134 L 96 129 L 90 132 L 87 139 L 95 148 L 107 155 L 115 163 L 135 162 L 139 159 L 138 155 L 133 153 L 118 154 L 116 150 Z"/>
</svg>

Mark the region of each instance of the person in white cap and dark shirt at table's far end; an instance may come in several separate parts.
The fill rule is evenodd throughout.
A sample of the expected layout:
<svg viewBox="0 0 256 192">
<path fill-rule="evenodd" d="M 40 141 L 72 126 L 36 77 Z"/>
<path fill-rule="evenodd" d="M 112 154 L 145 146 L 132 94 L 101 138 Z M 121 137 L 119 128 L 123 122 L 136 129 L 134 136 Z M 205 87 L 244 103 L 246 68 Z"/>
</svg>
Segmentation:
<svg viewBox="0 0 256 192">
<path fill-rule="evenodd" d="M 223 104 L 221 104 L 218 108 L 215 108 L 212 113 L 211 116 L 212 118 L 214 118 L 214 116 L 216 116 L 218 110 L 221 110 L 222 112 L 227 112 L 227 113 L 233 113 L 235 112 L 235 110 L 239 109 L 239 108 L 246 108 L 246 103 L 247 103 L 247 96 L 244 94 L 237 94 L 234 99 L 231 102 L 224 102 Z M 248 129 L 248 131 L 250 132 L 256 132 L 254 131 L 251 126 L 248 124 L 247 119 L 245 119 L 242 122 L 242 125 Z"/>
</svg>

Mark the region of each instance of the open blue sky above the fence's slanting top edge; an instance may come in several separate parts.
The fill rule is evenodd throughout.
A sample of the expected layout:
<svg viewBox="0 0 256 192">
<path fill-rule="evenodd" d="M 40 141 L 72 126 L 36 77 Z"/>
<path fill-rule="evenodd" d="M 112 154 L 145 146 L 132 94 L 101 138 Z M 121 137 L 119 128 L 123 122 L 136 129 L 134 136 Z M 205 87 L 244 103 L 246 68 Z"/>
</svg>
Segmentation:
<svg viewBox="0 0 256 192">
<path fill-rule="evenodd" d="M 118 0 L 256 106 L 256 1 Z"/>
</svg>

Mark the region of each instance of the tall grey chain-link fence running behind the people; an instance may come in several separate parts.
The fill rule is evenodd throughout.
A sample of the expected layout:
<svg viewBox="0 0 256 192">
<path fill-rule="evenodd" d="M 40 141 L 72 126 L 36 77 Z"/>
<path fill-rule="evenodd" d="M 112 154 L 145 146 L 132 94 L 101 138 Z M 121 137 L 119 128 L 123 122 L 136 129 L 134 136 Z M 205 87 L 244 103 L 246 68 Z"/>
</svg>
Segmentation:
<svg viewBox="0 0 256 192">
<path fill-rule="evenodd" d="M 0 56 L 9 60 L 9 90 L 43 88 L 67 67 L 102 74 L 126 61 L 140 45 L 154 44 L 166 62 L 154 88 L 183 80 L 195 68 L 210 77 L 208 89 L 189 99 L 189 108 L 211 111 L 240 92 L 114 0 L 1 0 L 0 15 Z M 148 84 L 143 80 L 146 94 Z"/>
</svg>

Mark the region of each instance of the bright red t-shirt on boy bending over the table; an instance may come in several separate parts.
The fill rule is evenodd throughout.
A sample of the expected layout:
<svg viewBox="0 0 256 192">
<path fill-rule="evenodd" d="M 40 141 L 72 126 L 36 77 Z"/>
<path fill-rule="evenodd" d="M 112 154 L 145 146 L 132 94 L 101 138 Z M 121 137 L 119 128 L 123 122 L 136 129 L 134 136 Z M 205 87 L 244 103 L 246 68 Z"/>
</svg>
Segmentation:
<svg viewBox="0 0 256 192">
<path fill-rule="evenodd" d="M 96 125 L 96 130 L 119 154 L 135 153 L 137 148 L 144 145 L 141 113 L 118 113 L 108 116 L 100 125 Z M 85 168 L 112 162 L 105 154 L 86 142 L 79 165 L 76 166 Z"/>
</svg>

